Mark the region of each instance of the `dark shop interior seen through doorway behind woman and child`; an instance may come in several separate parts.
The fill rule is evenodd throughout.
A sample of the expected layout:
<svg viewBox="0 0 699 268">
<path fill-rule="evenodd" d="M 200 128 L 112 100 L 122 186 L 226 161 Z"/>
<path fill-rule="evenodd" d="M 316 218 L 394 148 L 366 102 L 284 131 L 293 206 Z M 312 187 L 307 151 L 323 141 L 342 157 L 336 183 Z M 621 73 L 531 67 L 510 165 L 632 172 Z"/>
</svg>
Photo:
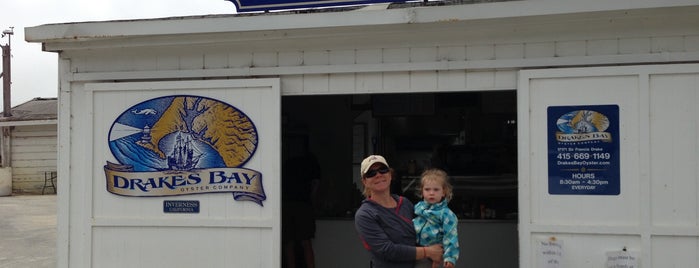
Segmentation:
<svg viewBox="0 0 699 268">
<path fill-rule="evenodd" d="M 359 162 L 375 153 L 396 171 L 394 193 L 418 201 L 416 179 L 439 167 L 451 177 L 459 219 L 516 220 L 516 111 L 514 90 L 284 96 L 283 161 L 316 157 L 320 219 L 352 217 L 363 199 Z"/>
</svg>

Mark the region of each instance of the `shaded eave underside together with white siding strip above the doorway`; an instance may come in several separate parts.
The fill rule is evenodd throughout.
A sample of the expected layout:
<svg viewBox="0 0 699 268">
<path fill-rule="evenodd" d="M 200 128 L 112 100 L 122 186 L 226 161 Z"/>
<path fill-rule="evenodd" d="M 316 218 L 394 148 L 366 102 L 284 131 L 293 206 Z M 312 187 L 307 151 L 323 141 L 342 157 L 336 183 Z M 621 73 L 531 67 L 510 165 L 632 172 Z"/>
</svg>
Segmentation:
<svg viewBox="0 0 699 268">
<path fill-rule="evenodd" d="M 512 90 L 525 68 L 697 61 L 699 17 L 685 9 L 220 35 L 187 46 L 134 39 L 61 57 L 78 83 L 279 77 L 283 95 Z"/>
</svg>

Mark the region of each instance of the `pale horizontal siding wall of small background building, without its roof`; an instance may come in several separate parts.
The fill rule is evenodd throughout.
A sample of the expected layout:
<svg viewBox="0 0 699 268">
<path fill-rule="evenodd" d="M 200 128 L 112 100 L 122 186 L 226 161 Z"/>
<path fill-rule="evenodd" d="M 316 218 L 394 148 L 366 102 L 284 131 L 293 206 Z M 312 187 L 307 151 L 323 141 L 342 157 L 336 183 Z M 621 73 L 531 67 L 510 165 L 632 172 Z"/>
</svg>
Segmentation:
<svg viewBox="0 0 699 268">
<path fill-rule="evenodd" d="M 12 130 L 12 192 L 41 194 L 44 172 L 56 171 L 56 125 L 18 126 Z M 53 189 L 47 189 L 53 193 Z"/>
</svg>

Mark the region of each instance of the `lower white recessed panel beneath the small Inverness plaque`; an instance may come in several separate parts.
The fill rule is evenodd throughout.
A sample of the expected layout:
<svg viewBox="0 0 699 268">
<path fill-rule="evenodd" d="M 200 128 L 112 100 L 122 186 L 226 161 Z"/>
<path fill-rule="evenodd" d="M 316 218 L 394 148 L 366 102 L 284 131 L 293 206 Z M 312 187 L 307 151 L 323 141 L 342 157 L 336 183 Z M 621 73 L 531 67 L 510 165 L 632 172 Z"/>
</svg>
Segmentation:
<svg viewBox="0 0 699 268">
<path fill-rule="evenodd" d="M 278 255 L 265 229 L 98 227 L 93 240 L 90 267 L 274 267 Z"/>
</svg>

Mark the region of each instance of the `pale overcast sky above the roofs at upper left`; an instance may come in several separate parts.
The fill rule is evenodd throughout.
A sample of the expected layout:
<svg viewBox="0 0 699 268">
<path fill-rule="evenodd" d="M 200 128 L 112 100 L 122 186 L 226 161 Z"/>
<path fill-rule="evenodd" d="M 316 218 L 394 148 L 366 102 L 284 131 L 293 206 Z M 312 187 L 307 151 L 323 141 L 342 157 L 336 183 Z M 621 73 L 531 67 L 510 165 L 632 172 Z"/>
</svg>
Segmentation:
<svg viewBox="0 0 699 268">
<path fill-rule="evenodd" d="M 14 35 L 9 41 L 12 48 L 12 106 L 36 97 L 58 95 L 58 56 L 41 51 L 41 44 L 24 41 L 25 27 L 233 13 L 235 5 L 225 0 L 0 0 L 0 31 L 14 26 Z M 7 45 L 8 36 L 0 38 L 0 44 Z"/>
</svg>

